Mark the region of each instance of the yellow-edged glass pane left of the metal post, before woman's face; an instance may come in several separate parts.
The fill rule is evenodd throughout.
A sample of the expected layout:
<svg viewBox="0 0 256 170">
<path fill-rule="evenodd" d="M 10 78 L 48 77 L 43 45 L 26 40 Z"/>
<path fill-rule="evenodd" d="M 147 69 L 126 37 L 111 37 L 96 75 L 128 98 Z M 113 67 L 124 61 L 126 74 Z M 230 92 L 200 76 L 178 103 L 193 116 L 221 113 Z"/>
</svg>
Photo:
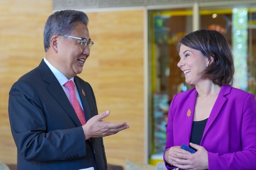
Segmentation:
<svg viewBox="0 0 256 170">
<path fill-rule="evenodd" d="M 168 11 L 150 11 L 149 48 L 151 65 L 151 116 L 150 116 L 150 163 L 156 164 L 163 158 L 166 141 L 166 125 L 169 104 L 175 94 L 190 87 L 181 77 L 177 67 L 179 55 L 176 45 L 192 31 L 191 8 Z"/>
</svg>

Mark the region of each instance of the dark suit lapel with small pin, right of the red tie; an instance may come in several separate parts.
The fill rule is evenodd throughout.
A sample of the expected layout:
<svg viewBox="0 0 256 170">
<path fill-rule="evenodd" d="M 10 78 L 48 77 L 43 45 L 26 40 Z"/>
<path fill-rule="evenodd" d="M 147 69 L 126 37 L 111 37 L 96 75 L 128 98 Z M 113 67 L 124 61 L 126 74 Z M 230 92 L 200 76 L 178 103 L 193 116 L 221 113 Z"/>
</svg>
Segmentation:
<svg viewBox="0 0 256 170">
<path fill-rule="evenodd" d="M 86 90 L 84 90 L 84 88 L 79 84 L 78 80 L 76 79 L 76 77 L 74 77 L 74 81 L 80 96 L 80 100 L 82 103 L 82 107 L 83 107 L 83 112 L 84 115 L 86 116 L 86 121 L 88 121 L 90 118 L 92 118 L 92 114 L 90 111 L 90 106 L 87 100 L 87 95 L 85 93 Z"/>
</svg>

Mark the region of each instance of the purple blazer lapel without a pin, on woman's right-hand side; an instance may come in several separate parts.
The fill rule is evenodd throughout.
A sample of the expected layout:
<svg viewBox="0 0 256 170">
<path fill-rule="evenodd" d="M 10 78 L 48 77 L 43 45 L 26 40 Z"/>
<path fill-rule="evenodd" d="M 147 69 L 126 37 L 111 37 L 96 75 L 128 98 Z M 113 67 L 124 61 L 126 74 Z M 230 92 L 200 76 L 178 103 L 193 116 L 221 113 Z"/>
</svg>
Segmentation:
<svg viewBox="0 0 256 170">
<path fill-rule="evenodd" d="M 210 129 L 211 125 L 214 123 L 215 119 L 218 117 L 223 105 L 226 103 L 227 99 L 225 98 L 225 95 L 229 94 L 231 90 L 231 86 L 230 85 L 223 85 L 221 87 L 221 90 L 219 92 L 219 95 L 217 97 L 217 100 L 214 104 L 214 107 L 212 108 L 211 112 L 210 112 L 210 116 L 207 120 L 205 129 L 204 129 L 204 133 L 203 133 L 203 137 L 201 140 L 201 143 L 203 141 L 203 138 L 205 136 L 205 134 L 207 133 L 207 131 Z"/>
</svg>

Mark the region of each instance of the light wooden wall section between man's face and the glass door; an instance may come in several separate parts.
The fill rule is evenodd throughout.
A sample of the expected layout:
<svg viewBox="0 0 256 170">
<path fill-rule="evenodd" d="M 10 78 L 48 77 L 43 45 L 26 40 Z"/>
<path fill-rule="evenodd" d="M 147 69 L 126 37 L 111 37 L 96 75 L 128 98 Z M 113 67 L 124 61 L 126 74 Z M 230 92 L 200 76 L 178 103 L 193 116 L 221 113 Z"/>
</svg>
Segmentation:
<svg viewBox="0 0 256 170">
<path fill-rule="evenodd" d="M 144 162 L 143 10 L 87 13 L 95 42 L 81 77 L 94 89 L 99 113 L 130 129 L 104 137 L 110 164 Z"/>
</svg>

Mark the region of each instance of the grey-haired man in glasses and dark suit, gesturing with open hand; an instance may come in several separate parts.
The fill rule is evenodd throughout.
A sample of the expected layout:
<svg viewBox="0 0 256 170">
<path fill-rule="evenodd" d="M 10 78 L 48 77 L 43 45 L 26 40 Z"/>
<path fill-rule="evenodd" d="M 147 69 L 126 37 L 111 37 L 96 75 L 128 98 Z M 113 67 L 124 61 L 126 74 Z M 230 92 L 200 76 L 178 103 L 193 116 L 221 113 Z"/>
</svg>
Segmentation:
<svg viewBox="0 0 256 170">
<path fill-rule="evenodd" d="M 110 112 L 98 114 L 92 87 L 76 76 L 93 45 L 87 25 L 83 12 L 52 14 L 44 31 L 46 57 L 10 90 L 18 169 L 107 169 L 102 137 L 129 128 L 104 122 Z"/>
</svg>

